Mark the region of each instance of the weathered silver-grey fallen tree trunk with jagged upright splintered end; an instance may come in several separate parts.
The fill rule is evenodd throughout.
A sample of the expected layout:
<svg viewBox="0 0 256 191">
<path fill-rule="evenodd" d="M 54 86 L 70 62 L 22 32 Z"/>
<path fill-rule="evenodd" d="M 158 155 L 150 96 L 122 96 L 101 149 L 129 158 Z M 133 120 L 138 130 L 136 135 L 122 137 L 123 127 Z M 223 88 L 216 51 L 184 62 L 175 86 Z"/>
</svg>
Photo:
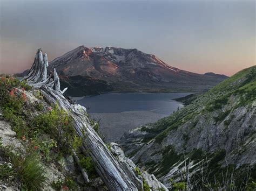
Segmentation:
<svg viewBox="0 0 256 191">
<path fill-rule="evenodd" d="M 35 62 L 25 79 L 32 86 L 41 88 L 46 101 L 53 104 L 58 103 L 60 108 L 70 112 L 75 121 L 76 132 L 83 138 L 84 149 L 82 151 L 90 151 L 96 171 L 105 185 L 110 190 L 142 189 L 142 181 L 134 174 L 134 169 L 122 168 L 122 165 L 113 157 L 103 140 L 93 130 L 89 119 L 85 115 L 86 108 L 79 104 L 72 104 L 63 96 L 56 70 L 54 70 L 53 77 L 48 76 L 47 67 L 47 55 L 43 55 L 41 49 L 38 49 Z"/>
</svg>

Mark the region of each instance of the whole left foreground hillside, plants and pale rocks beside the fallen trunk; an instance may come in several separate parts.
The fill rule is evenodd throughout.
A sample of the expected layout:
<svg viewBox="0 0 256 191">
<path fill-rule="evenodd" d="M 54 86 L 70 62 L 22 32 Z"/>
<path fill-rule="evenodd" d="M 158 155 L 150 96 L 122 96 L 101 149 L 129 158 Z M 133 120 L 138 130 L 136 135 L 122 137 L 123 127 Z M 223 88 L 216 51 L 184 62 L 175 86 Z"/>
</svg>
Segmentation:
<svg viewBox="0 0 256 191">
<path fill-rule="evenodd" d="M 99 178 L 92 159 L 80 152 L 81 145 L 82 138 L 77 136 L 68 112 L 47 103 L 42 91 L 25 81 L 0 76 L 0 190 L 86 190 L 104 186 L 78 180 L 73 151 L 89 178 Z"/>
</svg>

